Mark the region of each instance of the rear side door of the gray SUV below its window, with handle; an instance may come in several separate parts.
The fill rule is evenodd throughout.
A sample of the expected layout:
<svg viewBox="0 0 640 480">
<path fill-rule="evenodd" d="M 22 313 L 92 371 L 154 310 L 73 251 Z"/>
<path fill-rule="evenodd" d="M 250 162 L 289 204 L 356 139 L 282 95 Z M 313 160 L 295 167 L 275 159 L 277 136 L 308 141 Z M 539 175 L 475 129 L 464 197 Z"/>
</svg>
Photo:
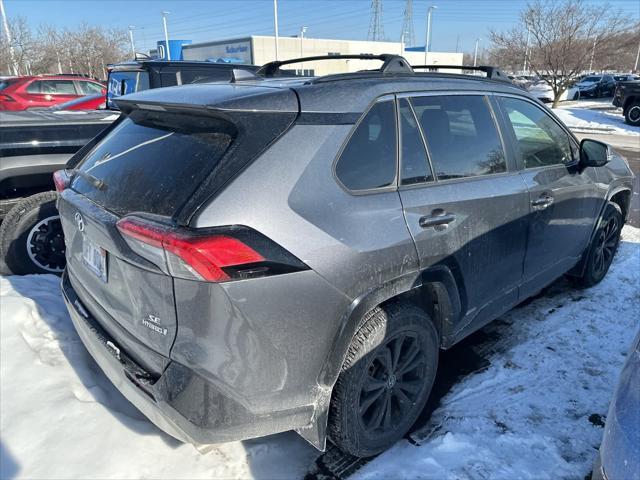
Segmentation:
<svg viewBox="0 0 640 480">
<path fill-rule="evenodd" d="M 403 189 L 400 198 L 420 268 L 444 263 L 460 272 L 463 324 L 492 300 L 517 292 L 529 213 L 517 173 Z M 425 218 L 438 215 L 453 219 L 425 225 Z"/>
</svg>

